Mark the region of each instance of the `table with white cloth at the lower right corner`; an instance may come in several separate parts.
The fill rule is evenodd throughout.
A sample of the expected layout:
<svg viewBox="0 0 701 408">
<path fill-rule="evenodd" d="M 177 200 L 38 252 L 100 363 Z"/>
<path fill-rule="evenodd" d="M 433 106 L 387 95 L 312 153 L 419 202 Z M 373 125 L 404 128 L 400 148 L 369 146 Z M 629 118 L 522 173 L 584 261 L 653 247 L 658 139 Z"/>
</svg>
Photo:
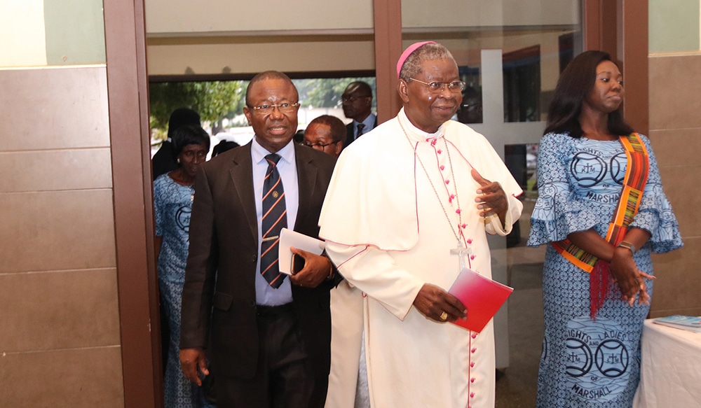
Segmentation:
<svg viewBox="0 0 701 408">
<path fill-rule="evenodd" d="M 701 407 L 701 333 L 645 321 L 634 408 Z"/>
</svg>

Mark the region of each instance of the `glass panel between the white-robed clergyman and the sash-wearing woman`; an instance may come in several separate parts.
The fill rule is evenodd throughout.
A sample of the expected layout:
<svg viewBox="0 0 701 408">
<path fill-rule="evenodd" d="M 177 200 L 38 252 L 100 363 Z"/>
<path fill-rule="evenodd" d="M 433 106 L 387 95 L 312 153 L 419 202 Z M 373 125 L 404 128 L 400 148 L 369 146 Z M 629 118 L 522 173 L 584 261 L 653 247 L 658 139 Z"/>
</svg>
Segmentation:
<svg viewBox="0 0 701 408">
<path fill-rule="evenodd" d="M 512 234 L 488 238 L 493 279 L 516 289 L 494 318 L 496 368 L 510 367 L 511 355 L 530 358 L 514 362 L 518 367 L 512 373 L 535 370 L 521 378 L 497 381 L 497 406 L 512 403 L 501 399 L 505 396 L 536 399 L 535 390 L 519 393 L 510 384 L 536 381 L 538 353 L 522 353 L 522 349 L 539 350 L 542 337 L 526 344 L 519 337 L 522 326 L 513 323 L 528 321 L 540 330 L 543 327 L 542 313 L 524 311 L 543 307 L 540 279 L 545 247 L 526 248 L 525 244 L 537 197 L 535 160 L 547 108 L 559 74 L 582 50 L 580 9 L 580 0 L 402 0 L 402 48 L 430 40 L 451 51 L 467 84 L 453 119 L 484 134 L 524 190 L 519 197 L 524 211 Z M 527 306 L 524 293 L 535 294 L 529 295 Z M 510 307 L 512 302 L 519 307 Z M 519 351 L 510 353 L 510 344 L 518 344 Z"/>
</svg>

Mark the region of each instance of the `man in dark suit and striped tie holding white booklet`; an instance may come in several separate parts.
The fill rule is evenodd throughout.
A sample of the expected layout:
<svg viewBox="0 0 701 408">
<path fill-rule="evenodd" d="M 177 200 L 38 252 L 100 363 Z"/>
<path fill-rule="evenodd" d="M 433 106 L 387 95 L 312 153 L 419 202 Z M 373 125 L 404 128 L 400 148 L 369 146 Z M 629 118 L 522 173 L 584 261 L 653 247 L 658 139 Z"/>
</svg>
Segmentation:
<svg viewBox="0 0 701 408">
<path fill-rule="evenodd" d="M 298 108 L 290 78 L 259 73 L 244 108 L 253 141 L 203 164 L 196 178 L 180 360 L 199 383 L 208 374 L 203 350 L 209 346 L 219 407 L 322 407 L 326 398 L 332 264 L 294 249 L 306 260 L 294 276 L 278 275 L 276 255 L 271 268 L 261 265 L 277 251 L 278 237 L 266 235 L 273 227 L 263 228 L 265 216 L 276 211 L 264 213 L 271 195 L 286 211 L 276 220 L 318 237 L 335 160 L 292 141 Z M 283 188 L 267 190 L 270 178 Z"/>
</svg>

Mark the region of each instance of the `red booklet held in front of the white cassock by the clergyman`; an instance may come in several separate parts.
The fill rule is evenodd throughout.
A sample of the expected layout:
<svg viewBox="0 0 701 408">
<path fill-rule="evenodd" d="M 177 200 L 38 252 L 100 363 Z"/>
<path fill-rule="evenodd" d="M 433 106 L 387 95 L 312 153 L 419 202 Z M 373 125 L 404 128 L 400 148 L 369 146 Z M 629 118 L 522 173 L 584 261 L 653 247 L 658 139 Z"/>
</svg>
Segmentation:
<svg viewBox="0 0 701 408">
<path fill-rule="evenodd" d="M 468 318 L 452 323 L 481 332 L 513 291 L 514 288 L 492 281 L 472 269 L 463 269 L 448 293 L 463 302 L 468 309 Z"/>
</svg>

